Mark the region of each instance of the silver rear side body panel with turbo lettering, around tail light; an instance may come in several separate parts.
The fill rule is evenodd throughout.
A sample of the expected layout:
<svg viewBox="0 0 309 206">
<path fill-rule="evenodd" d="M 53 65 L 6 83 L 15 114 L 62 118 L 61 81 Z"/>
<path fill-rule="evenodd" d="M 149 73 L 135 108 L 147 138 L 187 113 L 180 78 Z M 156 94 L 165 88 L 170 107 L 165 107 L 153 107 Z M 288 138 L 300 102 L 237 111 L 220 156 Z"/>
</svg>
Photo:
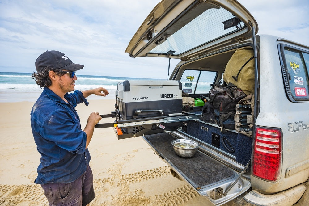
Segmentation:
<svg viewBox="0 0 309 206">
<path fill-rule="evenodd" d="M 309 176 L 309 122 L 308 102 L 290 102 L 282 82 L 278 37 L 260 36 L 260 113 L 256 125 L 282 129 L 283 156 L 280 180 L 276 183 L 261 181 L 252 176 L 253 188 L 263 193 L 285 190 L 295 184 L 305 182 Z M 290 44 L 293 45 L 293 44 Z M 295 45 L 293 45 L 295 46 Z M 303 48 L 308 49 L 308 48 Z M 306 128 L 306 129 L 305 129 Z M 295 168 L 295 169 L 294 169 Z M 299 168 L 299 169 L 297 169 Z M 290 169 L 294 169 L 290 172 Z M 286 173 L 289 174 L 286 174 Z M 267 186 L 267 187 L 265 187 Z"/>
</svg>

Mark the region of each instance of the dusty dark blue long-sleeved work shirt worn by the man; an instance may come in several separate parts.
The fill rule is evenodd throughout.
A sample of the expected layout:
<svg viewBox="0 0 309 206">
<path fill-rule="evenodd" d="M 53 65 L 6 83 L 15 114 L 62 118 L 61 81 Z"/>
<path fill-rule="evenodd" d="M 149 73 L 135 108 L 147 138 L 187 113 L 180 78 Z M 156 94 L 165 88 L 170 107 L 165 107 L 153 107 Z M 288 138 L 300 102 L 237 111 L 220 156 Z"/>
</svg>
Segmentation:
<svg viewBox="0 0 309 206">
<path fill-rule="evenodd" d="M 90 153 L 75 107 L 84 102 L 81 91 L 66 93 L 69 103 L 45 87 L 32 107 L 31 128 L 41 154 L 37 184 L 70 183 L 86 171 Z"/>
</svg>

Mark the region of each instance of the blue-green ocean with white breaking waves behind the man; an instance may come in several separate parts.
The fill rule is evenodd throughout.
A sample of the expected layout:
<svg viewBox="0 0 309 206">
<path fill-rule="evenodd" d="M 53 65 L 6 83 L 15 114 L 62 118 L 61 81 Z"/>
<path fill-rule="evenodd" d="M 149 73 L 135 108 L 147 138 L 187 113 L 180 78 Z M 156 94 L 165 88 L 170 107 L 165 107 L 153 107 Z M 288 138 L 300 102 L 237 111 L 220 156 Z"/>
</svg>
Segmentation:
<svg viewBox="0 0 309 206">
<path fill-rule="evenodd" d="M 31 78 L 32 73 L 0 72 L 0 102 L 35 102 L 42 89 Z M 157 80 L 148 78 L 108 77 L 76 75 L 75 90 L 88 90 L 104 87 L 109 94 L 106 97 L 90 95 L 87 99 L 114 99 L 118 82 L 124 80 Z"/>
</svg>

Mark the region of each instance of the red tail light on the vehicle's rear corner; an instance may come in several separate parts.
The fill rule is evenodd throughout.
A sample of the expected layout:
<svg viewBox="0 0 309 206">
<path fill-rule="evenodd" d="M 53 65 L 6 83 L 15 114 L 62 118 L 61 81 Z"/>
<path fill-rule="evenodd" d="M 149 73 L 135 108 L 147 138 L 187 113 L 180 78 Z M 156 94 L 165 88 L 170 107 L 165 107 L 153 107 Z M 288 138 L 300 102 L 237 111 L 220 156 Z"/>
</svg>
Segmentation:
<svg viewBox="0 0 309 206">
<path fill-rule="evenodd" d="M 277 181 L 281 170 L 281 130 L 257 127 L 253 148 L 252 174 Z"/>
</svg>

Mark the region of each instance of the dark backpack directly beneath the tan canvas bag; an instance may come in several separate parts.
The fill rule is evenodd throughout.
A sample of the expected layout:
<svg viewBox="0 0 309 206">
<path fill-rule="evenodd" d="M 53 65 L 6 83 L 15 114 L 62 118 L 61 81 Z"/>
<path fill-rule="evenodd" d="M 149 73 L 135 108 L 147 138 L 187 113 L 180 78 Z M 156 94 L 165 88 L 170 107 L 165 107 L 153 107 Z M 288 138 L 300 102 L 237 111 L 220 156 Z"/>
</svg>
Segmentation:
<svg viewBox="0 0 309 206">
<path fill-rule="evenodd" d="M 236 104 L 247 95 L 242 90 L 237 89 L 235 85 L 229 83 L 228 85 L 214 85 L 208 96 L 210 103 L 219 112 L 231 112 L 236 109 Z"/>
</svg>

